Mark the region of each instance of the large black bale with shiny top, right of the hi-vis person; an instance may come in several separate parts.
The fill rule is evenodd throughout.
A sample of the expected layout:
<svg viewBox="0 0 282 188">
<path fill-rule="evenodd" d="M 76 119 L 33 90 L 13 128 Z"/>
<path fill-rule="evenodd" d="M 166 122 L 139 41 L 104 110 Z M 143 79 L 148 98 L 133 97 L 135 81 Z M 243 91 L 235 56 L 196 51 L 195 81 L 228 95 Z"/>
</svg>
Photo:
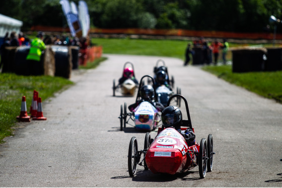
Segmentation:
<svg viewBox="0 0 282 188">
<path fill-rule="evenodd" d="M 55 76 L 70 78 L 72 73 L 72 51 L 67 46 L 52 45 L 55 53 Z"/>
</svg>

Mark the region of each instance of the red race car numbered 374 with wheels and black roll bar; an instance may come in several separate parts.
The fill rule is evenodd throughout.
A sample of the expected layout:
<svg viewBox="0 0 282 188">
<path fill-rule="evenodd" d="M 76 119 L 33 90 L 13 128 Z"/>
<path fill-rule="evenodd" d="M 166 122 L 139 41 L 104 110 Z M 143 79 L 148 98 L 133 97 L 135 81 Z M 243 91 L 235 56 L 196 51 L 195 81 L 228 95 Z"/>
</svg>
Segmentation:
<svg viewBox="0 0 282 188">
<path fill-rule="evenodd" d="M 181 130 L 189 127 L 193 130 L 188 104 L 181 95 L 172 96 L 182 98 L 185 102 L 188 120 L 182 120 Z M 142 154 L 143 157 L 142 157 Z M 138 151 L 137 140 L 132 137 L 128 150 L 128 172 L 131 177 L 135 175 L 136 166 L 144 166 L 153 173 L 175 174 L 185 172 L 195 166 L 199 167 L 199 175 L 205 177 L 206 171 L 213 170 L 214 144 L 213 135 L 209 134 L 207 140 L 202 138 L 200 144 L 188 145 L 184 137 L 174 128 L 159 128 L 155 139 L 151 139 L 150 133 L 146 133 L 144 150 Z"/>
</svg>

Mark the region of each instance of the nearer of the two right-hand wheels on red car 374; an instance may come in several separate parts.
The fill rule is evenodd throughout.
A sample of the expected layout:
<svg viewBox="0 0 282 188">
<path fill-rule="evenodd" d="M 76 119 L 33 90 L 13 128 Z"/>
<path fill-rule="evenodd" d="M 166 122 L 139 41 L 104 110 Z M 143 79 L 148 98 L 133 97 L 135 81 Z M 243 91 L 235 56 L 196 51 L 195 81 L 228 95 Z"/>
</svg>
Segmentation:
<svg viewBox="0 0 282 188">
<path fill-rule="evenodd" d="M 199 150 L 199 156 L 198 156 L 198 162 L 199 162 L 199 174 L 201 178 L 205 177 L 206 173 L 206 140 L 204 138 L 201 139 L 200 142 L 200 150 Z"/>
</svg>

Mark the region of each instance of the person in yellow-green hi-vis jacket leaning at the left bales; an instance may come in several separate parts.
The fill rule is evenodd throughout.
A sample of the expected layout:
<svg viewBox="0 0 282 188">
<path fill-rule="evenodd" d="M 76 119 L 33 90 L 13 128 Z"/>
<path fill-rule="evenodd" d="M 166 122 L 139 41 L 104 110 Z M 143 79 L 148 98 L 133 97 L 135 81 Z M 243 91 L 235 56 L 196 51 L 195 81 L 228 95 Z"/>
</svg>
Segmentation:
<svg viewBox="0 0 282 188">
<path fill-rule="evenodd" d="M 31 75 L 40 75 L 42 74 L 42 68 L 40 64 L 40 57 L 42 51 L 46 49 L 44 42 L 42 41 L 44 36 L 43 32 L 38 32 L 35 39 L 32 40 L 29 53 L 27 55 L 27 61 L 30 67 Z"/>
</svg>

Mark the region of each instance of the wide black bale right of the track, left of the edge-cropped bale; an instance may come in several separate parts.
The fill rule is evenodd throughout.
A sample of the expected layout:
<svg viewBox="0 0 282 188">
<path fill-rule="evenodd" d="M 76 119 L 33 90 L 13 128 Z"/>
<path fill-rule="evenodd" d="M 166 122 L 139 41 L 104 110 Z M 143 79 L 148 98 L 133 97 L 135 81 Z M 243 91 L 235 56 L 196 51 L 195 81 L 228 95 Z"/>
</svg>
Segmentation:
<svg viewBox="0 0 282 188">
<path fill-rule="evenodd" d="M 263 71 L 266 60 L 266 48 L 237 48 L 232 50 L 232 71 Z"/>
</svg>

